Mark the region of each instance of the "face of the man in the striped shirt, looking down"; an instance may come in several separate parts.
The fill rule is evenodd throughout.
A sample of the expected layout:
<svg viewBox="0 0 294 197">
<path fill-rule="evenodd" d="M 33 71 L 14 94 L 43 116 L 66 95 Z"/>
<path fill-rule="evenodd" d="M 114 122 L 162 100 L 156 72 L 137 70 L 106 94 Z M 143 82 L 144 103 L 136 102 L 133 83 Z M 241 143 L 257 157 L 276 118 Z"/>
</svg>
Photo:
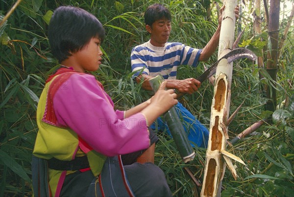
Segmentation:
<svg viewBox="0 0 294 197">
<path fill-rule="evenodd" d="M 160 19 L 153 22 L 152 26 L 146 25 L 150 35 L 150 43 L 154 46 L 164 46 L 168 42 L 171 33 L 171 21 Z"/>
</svg>

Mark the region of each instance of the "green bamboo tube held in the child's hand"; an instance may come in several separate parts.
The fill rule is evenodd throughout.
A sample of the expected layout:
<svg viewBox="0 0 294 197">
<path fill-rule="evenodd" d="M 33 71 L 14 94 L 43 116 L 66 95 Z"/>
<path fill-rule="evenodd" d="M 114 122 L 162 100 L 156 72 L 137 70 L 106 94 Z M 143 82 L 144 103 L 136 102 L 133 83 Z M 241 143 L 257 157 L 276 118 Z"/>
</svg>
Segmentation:
<svg viewBox="0 0 294 197">
<path fill-rule="evenodd" d="M 154 92 L 158 90 L 163 81 L 164 79 L 161 75 L 158 75 L 149 80 L 150 86 Z M 164 114 L 164 118 L 167 121 L 172 138 L 183 161 L 187 163 L 188 161 L 193 160 L 195 157 L 195 152 L 193 151 L 193 148 L 188 140 L 184 127 L 174 106 Z"/>
</svg>

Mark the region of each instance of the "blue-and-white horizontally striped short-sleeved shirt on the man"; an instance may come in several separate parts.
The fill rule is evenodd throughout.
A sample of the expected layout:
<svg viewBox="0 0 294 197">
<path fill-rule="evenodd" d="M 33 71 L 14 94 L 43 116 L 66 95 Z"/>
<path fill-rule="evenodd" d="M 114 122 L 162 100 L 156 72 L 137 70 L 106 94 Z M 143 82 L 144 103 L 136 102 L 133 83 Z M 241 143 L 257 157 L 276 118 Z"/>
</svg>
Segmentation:
<svg viewBox="0 0 294 197">
<path fill-rule="evenodd" d="M 155 77 L 161 74 L 164 79 L 176 79 L 177 66 L 196 67 L 201 49 L 181 43 L 166 43 L 163 47 L 147 43 L 135 46 L 131 52 L 133 77 L 147 74 Z"/>
</svg>

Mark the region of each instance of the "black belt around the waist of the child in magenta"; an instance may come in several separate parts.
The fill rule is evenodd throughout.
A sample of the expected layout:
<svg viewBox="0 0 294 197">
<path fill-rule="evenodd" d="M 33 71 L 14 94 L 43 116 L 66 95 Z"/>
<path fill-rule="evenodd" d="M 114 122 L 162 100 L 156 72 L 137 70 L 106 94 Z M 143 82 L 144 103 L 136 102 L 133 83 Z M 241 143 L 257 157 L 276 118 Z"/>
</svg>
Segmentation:
<svg viewBox="0 0 294 197">
<path fill-rule="evenodd" d="M 90 168 L 90 165 L 87 156 L 75 157 L 75 159 L 71 161 L 62 161 L 53 157 L 48 160 L 48 168 L 60 171 L 75 171 Z"/>
</svg>

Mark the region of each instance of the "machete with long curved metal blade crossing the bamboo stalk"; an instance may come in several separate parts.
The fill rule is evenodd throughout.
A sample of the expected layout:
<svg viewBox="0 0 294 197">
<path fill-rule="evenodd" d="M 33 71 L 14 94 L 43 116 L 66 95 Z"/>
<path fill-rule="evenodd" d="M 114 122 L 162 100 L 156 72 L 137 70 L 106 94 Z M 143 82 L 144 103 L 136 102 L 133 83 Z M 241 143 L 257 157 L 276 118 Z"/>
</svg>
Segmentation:
<svg viewBox="0 0 294 197">
<path fill-rule="evenodd" d="M 252 61 L 257 59 L 257 56 L 249 49 L 247 48 L 236 48 L 231 50 L 230 52 L 228 52 L 227 54 L 225 54 L 224 56 L 222 56 L 216 63 L 214 63 L 212 66 L 210 66 L 205 72 L 203 72 L 198 78 L 196 78 L 196 80 L 198 80 L 199 82 L 204 82 L 206 79 L 208 79 L 209 77 L 211 77 L 212 75 L 214 75 L 217 71 L 217 66 L 219 64 L 219 62 L 222 59 L 227 59 L 228 64 L 230 64 L 231 62 L 241 59 L 241 58 L 248 58 Z M 182 97 L 185 93 L 179 92 L 178 93 L 178 98 Z"/>
</svg>

